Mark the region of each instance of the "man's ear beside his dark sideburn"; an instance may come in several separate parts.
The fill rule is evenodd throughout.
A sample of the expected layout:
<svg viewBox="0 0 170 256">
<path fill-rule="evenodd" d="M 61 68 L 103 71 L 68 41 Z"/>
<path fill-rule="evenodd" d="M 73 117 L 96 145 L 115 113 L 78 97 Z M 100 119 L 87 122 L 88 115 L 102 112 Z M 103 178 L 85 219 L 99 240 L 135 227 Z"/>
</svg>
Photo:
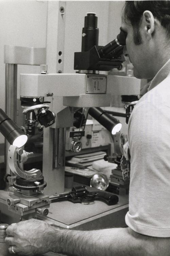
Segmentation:
<svg viewBox="0 0 170 256">
<path fill-rule="evenodd" d="M 152 33 L 154 32 L 154 29 L 155 29 L 154 17 L 150 11 L 143 12 L 142 23 L 143 23 L 143 27 L 145 29 L 147 38 L 150 40 L 152 37 Z"/>
</svg>

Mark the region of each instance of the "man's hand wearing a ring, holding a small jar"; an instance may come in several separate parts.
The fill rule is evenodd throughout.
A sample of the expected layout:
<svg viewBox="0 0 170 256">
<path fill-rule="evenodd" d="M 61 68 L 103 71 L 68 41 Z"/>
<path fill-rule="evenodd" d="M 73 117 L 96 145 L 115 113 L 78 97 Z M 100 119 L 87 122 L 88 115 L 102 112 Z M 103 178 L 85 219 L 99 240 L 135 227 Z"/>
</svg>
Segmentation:
<svg viewBox="0 0 170 256">
<path fill-rule="evenodd" d="M 18 255 L 36 255 L 44 254 L 52 251 L 53 232 L 56 234 L 56 228 L 47 224 L 44 221 L 30 219 L 13 223 L 6 229 L 7 242 L 10 247 L 13 245 L 13 250 Z M 9 248 L 10 248 L 9 247 Z"/>
</svg>

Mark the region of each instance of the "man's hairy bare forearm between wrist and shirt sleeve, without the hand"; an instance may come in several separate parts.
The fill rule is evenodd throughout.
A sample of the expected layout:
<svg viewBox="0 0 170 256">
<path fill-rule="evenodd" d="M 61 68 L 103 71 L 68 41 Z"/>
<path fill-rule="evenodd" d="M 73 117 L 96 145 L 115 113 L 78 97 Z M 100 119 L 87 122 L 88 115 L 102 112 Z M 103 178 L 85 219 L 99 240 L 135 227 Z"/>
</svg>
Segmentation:
<svg viewBox="0 0 170 256">
<path fill-rule="evenodd" d="M 72 256 L 169 255 L 169 238 L 143 236 L 130 228 L 92 231 L 54 227 L 53 252 Z"/>
</svg>

